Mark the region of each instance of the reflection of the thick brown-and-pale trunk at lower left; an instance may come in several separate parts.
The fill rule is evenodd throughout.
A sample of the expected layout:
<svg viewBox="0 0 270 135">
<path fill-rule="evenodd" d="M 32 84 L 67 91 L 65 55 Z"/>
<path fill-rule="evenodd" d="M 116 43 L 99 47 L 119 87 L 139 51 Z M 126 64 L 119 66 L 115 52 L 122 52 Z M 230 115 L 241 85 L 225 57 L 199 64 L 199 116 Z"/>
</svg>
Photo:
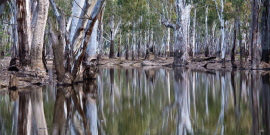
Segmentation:
<svg viewBox="0 0 270 135">
<path fill-rule="evenodd" d="M 47 135 L 47 124 L 43 108 L 42 87 L 31 87 L 30 91 L 21 92 L 17 134 Z"/>
</svg>

